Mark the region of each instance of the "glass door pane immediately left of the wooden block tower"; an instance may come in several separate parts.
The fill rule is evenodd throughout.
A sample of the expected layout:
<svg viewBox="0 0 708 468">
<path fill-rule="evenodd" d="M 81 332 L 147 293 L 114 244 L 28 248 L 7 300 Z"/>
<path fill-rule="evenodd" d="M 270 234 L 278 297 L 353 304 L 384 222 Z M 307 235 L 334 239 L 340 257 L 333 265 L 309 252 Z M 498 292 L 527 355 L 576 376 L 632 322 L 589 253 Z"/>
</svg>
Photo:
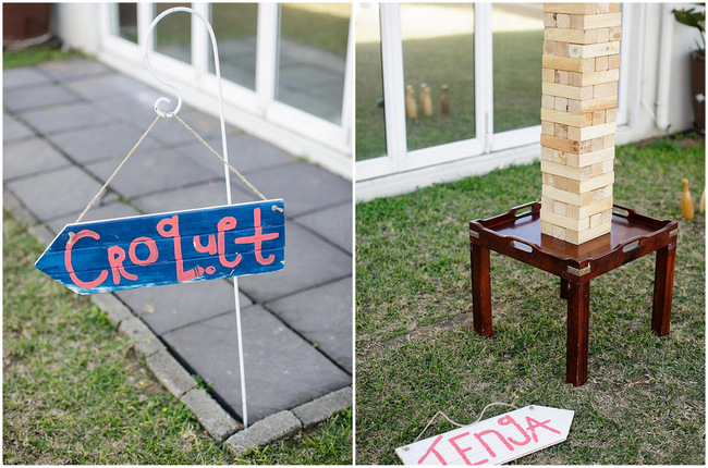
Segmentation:
<svg viewBox="0 0 708 468">
<path fill-rule="evenodd" d="M 495 3 L 495 133 L 540 125 L 542 3 Z"/>
</svg>

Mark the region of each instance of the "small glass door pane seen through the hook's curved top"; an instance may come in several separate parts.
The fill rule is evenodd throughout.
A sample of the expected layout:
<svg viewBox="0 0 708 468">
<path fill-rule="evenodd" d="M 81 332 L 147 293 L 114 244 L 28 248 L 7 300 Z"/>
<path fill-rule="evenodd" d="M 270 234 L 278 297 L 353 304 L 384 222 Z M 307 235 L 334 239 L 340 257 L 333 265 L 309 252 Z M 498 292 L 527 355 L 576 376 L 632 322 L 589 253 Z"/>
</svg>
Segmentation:
<svg viewBox="0 0 708 468">
<path fill-rule="evenodd" d="M 191 7 L 191 3 L 156 3 L 155 16 L 174 7 Z M 182 62 L 192 63 L 191 15 L 178 12 L 163 17 L 155 28 L 155 50 Z"/>
</svg>

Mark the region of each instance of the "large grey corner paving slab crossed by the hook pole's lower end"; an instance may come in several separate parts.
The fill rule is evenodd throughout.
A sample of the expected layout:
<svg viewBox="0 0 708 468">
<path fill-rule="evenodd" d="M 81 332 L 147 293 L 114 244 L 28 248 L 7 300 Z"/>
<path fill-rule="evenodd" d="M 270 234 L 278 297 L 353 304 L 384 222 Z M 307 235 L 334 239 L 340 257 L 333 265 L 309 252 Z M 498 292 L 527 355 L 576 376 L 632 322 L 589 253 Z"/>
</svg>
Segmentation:
<svg viewBox="0 0 708 468">
<path fill-rule="evenodd" d="M 242 310 L 248 418 L 257 421 L 350 384 L 350 377 L 260 306 Z M 237 414 L 241 380 L 233 311 L 166 333 L 162 338 L 211 383 Z"/>
</svg>

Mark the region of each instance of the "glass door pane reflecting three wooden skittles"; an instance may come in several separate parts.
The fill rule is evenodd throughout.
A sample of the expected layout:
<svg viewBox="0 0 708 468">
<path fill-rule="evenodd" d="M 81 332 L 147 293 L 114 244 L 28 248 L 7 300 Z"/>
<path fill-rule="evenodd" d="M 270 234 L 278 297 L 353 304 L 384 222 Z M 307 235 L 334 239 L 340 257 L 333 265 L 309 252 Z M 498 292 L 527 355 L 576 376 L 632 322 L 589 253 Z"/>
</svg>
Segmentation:
<svg viewBox="0 0 708 468">
<path fill-rule="evenodd" d="M 474 20 L 472 4 L 401 4 L 406 96 L 417 110 L 416 118 L 407 118 L 408 150 L 475 137 Z M 428 88 L 429 107 L 422 101 L 422 85 Z"/>
</svg>

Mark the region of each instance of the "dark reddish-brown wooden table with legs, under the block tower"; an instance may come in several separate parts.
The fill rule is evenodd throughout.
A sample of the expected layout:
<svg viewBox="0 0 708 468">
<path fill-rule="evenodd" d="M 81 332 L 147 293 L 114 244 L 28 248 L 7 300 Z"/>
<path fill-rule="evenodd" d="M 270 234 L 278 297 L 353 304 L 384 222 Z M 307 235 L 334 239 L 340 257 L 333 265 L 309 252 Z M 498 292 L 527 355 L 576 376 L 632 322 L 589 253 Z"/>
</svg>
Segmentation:
<svg viewBox="0 0 708 468">
<path fill-rule="evenodd" d="M 560 276 L 560 295 L 567 301 L 565 381 L 579 386 L 587 381 L 590 280 L 656 251 L 651 330 L 668 334 L 678 233 L 675 221 L 619 205 L 613 207 L 611 233 L 577 246 L 541 234 L 540 202 L 471 221 L 474 329 L 483 336 L 492 334 L 490 250 Z"/>
</svg>

